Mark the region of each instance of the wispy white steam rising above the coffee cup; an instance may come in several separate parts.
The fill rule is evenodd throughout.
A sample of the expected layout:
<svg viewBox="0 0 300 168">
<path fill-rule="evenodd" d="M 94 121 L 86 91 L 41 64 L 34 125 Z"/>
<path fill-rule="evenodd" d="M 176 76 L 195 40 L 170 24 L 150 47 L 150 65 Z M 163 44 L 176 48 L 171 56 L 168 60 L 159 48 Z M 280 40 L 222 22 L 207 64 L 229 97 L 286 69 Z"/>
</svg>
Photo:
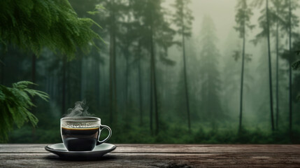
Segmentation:
<svg viewBox="0 0 300 168">
<path fill-rule="evenodd" d="M 88 106 L 85 106 L 86 102 L 76 102 L 73 109 L 68 109 L 68 114 L 65 117 L 80 117 L 80 116 L 92 116 L 87 112 Z"/>
</svg>

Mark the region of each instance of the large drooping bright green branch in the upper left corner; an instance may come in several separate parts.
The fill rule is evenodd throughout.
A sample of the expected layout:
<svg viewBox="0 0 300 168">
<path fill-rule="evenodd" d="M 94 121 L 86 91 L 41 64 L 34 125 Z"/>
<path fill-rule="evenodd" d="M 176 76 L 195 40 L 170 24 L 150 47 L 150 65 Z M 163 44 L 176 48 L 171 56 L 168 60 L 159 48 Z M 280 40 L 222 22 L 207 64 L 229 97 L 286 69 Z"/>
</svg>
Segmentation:
<svg viewBox="0 0 300 168">
<path fill-rule="evenodd" d="M 85 52 L 101 39 L 90 18 L 78 18 L 67 0 L 0 1 L 0 41 L 40 54 L 43 47 L 71 59 L 77 48 Z M 99 27 L 99 25 L 97 25 Z"/>
</svg>

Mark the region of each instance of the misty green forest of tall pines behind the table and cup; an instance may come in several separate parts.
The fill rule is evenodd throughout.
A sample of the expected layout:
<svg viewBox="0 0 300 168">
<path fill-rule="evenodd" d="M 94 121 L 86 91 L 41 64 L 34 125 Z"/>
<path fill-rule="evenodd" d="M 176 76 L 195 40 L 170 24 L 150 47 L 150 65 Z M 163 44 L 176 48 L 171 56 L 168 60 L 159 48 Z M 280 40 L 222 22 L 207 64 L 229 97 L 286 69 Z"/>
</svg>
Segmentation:
<svg viewBox="0 0 300 168">
<path fill-rule="evenodd" d="M 62 141 L 59 118 L 82 100 L 111 143 L 300 142 L 299 1 L 69 2 L 103 41 L 70 60 L 8 45 L 1 84 L 29 80 L 50 97 L 9 143 Z"/>
</svg>

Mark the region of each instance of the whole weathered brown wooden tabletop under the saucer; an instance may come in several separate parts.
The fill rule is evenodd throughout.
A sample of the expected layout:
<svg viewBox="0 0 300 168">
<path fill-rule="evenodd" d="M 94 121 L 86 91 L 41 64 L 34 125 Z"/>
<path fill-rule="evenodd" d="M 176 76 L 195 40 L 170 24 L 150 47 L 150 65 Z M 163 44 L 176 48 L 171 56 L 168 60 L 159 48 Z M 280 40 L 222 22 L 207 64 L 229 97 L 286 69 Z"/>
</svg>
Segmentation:
<svg viewBox="0 0 300 168">
<path fill-rule="evenodd" d="M 46 144 L 0 144 L 0 167 L 300 167 L 300 145 L 117 144 L 96 161 L 60 160 Z"/>
</svg>

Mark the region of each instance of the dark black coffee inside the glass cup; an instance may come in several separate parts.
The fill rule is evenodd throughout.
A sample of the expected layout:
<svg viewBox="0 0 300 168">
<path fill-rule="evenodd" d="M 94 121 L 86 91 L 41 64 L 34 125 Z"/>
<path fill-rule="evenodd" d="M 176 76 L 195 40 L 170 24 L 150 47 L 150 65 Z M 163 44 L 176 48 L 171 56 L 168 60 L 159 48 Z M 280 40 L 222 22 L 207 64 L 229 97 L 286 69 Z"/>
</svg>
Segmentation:
<svg viewBox="0 0 300 168">
<path fill-rule="evenodd" d="M 99 136 L 99 127 L 65 128 L 62 127 L 62 141 L 68 151 L 92 151 Z"/>
</svg>

